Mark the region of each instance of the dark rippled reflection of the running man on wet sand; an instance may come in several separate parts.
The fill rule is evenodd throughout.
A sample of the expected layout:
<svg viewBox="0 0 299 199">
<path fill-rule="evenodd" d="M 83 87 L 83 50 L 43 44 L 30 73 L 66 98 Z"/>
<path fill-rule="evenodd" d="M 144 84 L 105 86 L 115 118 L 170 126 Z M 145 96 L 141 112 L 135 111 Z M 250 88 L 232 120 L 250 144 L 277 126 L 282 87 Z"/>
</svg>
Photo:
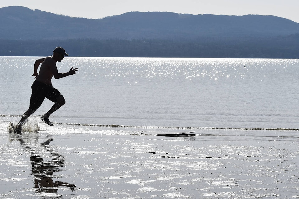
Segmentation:
<svg viewBox="0 0 299 199">
<path fill-rule="evenodd" d="M 62 155 L 57 152 L 54 152 L 49 145 L 52 139 L 48 139 L 43 142 L 41 145 L 43 149 L 46 149 L 47 152 L 50 152 L 52 155 L 52 160 L 44 161 L 43 158 L 39 155 L 41 152 L 31 149 L 26 145 L 23 138 L 18 139 L 21 142 L 21 145 L 29 151 L 30 160 L 32 166 L 32 174 L 34 176 L 34 188 L 36 192 L 47 192 L 47 193 L 56 193 L 58 192 L 58 187 L 65 186 L 70 187 L 72 191 L 76 189 L 76 185 L 70 183 L 64 183 L 61 181 L 53 181 L 53 173 L 60 171 L 59 167 L 63 167 L 65 159 Z"/>
</svg>

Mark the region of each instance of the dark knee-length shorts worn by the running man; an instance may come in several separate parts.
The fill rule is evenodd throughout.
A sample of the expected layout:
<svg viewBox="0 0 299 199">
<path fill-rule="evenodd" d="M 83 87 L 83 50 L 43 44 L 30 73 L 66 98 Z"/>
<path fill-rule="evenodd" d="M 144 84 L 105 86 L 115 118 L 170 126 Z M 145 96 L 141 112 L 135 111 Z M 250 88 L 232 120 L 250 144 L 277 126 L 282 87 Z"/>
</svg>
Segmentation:
<svg viewBox="0 0 299 199">
<path fill-rule="evenodd" d="M 55 103 L 58 97 L 63 97 L 57 89 L 53 88 L 52 84 L 48 85 L 40 81 L 34 81 L 31 86 L 31 90 L 32 94 L 29 109 L 33 110 L 38 109 L 45 98 Z"/>
</svg>

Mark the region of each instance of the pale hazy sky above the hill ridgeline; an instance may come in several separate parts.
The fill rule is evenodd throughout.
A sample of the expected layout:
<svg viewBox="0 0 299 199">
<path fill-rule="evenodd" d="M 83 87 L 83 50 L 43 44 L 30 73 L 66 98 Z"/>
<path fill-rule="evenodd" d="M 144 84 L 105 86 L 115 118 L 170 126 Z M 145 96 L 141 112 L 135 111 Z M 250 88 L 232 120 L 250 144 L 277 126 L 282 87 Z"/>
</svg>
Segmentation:
<svg viewBox="0 0 299 199">
<path fill-rule="evenodd" d="M 99 19 L 125 12 L 216 15 L 274 15 L 299 22 L 299 0 L 7 0 L 0 7 L 24 6 L 71 17 Z"/>
</svg>

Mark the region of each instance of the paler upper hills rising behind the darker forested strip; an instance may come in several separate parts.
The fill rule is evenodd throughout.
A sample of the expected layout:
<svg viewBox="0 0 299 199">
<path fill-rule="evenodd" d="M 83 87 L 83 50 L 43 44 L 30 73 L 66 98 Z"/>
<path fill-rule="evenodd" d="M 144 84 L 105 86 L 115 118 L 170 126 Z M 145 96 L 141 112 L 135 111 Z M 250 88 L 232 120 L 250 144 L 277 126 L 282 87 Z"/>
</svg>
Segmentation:
<svg viewBox="0 0 299 199">
<path fill-rule="evenodd" d="M 21 6 L 0 8 L 0 39 L 197 39 L 286 36 L 299 23 L 277 16 L 128 12 L 102 19 L 75 18 Z"/>
</svg>

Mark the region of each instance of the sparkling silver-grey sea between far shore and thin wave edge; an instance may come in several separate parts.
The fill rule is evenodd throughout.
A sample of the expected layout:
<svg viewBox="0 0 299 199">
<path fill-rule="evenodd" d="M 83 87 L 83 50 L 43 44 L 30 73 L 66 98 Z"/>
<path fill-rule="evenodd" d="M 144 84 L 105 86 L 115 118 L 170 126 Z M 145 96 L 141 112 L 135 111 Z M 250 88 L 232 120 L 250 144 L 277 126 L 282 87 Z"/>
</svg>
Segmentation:
<svg viewBox="0 0 299 199">
<path fill-rule="evenodd" d="M 1 120 L 28 109 L 36 59 L 1 57 Z M 57 67 L 79 70 L 52 81 L 66 99 L 52 122 L 299 129 L 297 59 L 66 57 Z"/>
</svg>

